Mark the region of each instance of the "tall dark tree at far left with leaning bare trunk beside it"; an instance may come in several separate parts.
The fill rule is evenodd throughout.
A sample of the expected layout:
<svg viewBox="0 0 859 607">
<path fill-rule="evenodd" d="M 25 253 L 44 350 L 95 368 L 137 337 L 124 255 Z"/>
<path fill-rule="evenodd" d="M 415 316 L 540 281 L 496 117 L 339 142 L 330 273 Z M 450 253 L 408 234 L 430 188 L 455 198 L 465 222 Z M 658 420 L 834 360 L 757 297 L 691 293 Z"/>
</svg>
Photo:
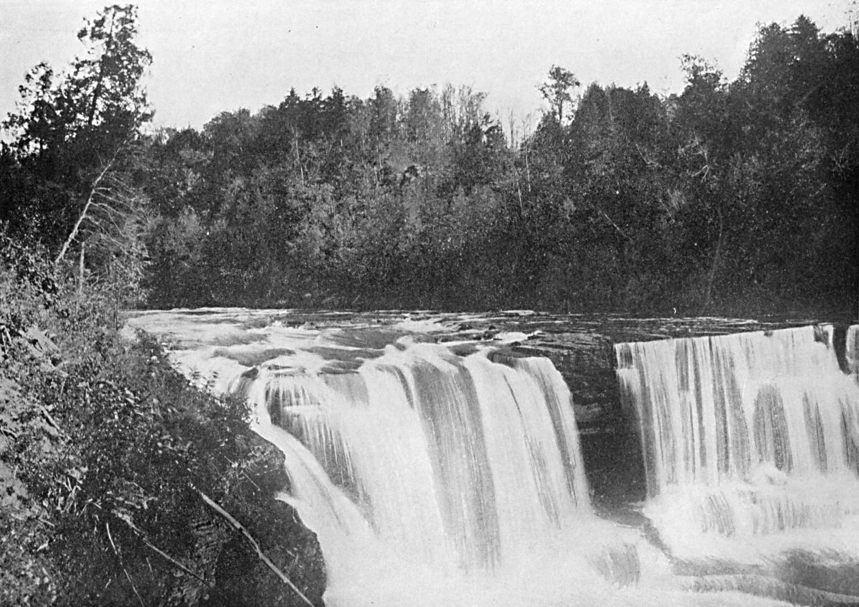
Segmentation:
<svg viewBox="0 0 859 607">
<path fill-rule="evenodd" d="M 136 7 L 106 7 L 77 33 L 84 56 L 59 75 L 37 66 L 21 87 L 17 111 L 3 123 L 11 140 L 3 179 L 21 185 L 4 218 L 21 231 L 39 222 L 39 237 L 57 262 L 77 244 L 82 269 L 86 240 L 90 251 L 106 249 L 91 268 L 102 277 L 131 270 L 120 271 L 118 263 L 135 265 L 131 273 L 139 276 L 143 258 L 125 254 L 142 251 L 139 230 L 131 229 L 143 223 L 142 198 L 130 172 L 140 127 L 152 115 L 142 83 L 151 57 L 136 35 Z"/>
</svg>

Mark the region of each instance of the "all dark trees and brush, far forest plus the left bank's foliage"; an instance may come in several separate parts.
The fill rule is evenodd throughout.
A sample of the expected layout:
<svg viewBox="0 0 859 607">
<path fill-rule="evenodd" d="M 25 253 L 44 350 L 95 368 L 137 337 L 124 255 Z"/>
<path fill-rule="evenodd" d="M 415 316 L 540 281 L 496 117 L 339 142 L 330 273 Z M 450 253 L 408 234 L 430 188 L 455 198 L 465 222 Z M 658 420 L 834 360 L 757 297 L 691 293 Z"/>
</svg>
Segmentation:
<svg viewBox="0 0 859 607">
<path fill-rule="evenodd" d="M 669 97 L 547 66 L 533 130 L 380 86 L 156 131 L 136 9 L 77 35 L 3 121 L 0 603 L 320 601 L 245 405 L 119 337 L 124 308 L 856 311 L 849 30 L 760 27 L 734 82 L 685 57 Z"/>
</svg>

